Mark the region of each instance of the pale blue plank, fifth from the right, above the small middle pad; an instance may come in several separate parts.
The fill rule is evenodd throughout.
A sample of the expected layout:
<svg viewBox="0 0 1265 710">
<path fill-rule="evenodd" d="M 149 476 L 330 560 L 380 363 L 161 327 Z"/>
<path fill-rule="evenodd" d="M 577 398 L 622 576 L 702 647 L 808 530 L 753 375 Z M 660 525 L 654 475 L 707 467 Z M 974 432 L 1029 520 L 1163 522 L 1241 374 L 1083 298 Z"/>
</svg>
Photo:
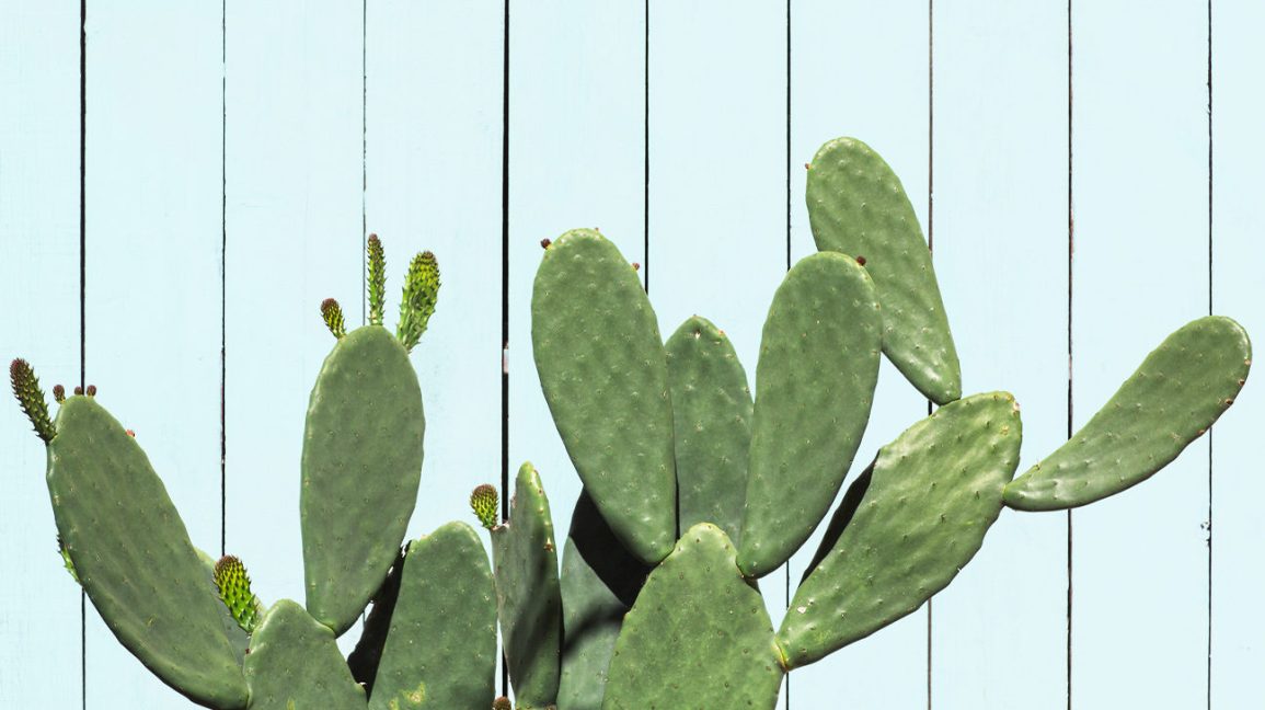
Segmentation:
<svg viewBox="0 0 1265 710">
<path fill-rule="evenodd" d="M 787 268 L 786 8 L 650 3 L 649 24 L 650 299 L 664 338 L 694 314 L 722 329 L 754 392 Z M 759 583 L 777 624 L 786 570 Z"/>
</svg>

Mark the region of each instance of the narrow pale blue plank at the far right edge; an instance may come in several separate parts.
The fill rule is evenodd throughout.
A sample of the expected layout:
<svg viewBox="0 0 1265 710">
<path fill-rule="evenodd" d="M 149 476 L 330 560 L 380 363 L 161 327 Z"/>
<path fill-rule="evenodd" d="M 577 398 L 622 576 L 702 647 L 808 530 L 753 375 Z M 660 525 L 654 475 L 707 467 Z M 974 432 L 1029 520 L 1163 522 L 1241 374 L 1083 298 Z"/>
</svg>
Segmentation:
<svg viewBox="0 0 1265 710">
<path fill-rule="evenodd" d="M 1265 5 L 1213 6 L 1213 311 L 1247 328 L 1256 344 L 1254 382 L 1213 428 L 1212 706 L 1265 705 L 1265 586 L 1261 540 L 1265 500 L 1260 430 L 1265 421 L 1265 243 L 1260 187 L 1265 138 L 1260 132 L 1259 28 Z"/>
</svg>

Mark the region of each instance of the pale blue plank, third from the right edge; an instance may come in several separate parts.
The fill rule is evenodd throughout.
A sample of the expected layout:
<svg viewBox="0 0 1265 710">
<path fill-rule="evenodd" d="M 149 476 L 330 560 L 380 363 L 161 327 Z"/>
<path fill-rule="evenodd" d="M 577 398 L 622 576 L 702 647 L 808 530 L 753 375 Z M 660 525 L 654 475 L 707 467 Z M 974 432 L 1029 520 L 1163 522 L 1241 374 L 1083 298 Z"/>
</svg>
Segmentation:
<svg viewBox="0 0 1265 710">
<path fill-rule="evenodd" d="M 1006 61 L 998 61 L 1006 57 Z M 935 8 L 935 261 L 963 394 L 1023 408 L 1021 471 L 1066 440 L 1066 8 Z M 935 707 L 1065 707 L 1066 516 L 1004 510 L 935 599 Z"/>
</svg>

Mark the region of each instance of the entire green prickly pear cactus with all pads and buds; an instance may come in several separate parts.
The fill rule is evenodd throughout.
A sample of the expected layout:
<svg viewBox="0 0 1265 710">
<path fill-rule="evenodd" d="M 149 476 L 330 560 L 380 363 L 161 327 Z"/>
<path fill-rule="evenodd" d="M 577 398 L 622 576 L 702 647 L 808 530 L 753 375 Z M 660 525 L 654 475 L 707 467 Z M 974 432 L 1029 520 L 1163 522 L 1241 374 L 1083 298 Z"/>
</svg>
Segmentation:
<svg viewBox="0 0 1265 710">
<path fill-rule="evenodd" d="M 401 547 L 425 434 L 409 351 L 435 310 L 439 268 L 430 252 L 411 261 L 391 333 L 385 251 L 369 235 L 368 325 L 348 332 L 336 301 L 320 308 L 336 343 L 305 425 L 305 602 L 266 609 L 238 558 L 213 562 L 192 545 L 96 389 L 54 387 L 53 420 L 16 359 L 14 395 L 49 448 L 62 561 L 119 640 L 207 707 L 772 709 L 788 672 L 945 589 L 1004 506 L 1064 510 L 1144 481 L 1247 378 L 1243 329 L 1200 318 L 1015 477 L 1018 404 L 1008 392 L 963 396 L 926 243 L 887 163 L 859 140 L 832 140 L 808 166 L 807 201 L 820 253 L 773 295 L 754 392 L 711 321 L 693 316 L 664 342 L 636 265 L 597 230 L 541 240 L 533 349 L 583 482 L 560 554 L 530 463 L 507 521 L 493 486 L 471 495 L 492 566 L 462 523 Z M 940 408 L 855 472 L 880 357 Z M 850 472 L 775 628 L 754 582 L 827 520 Z M 142 567 L 129 562 L 138 539 Z M 344 661 L 335 638 L 369 604 Z M 497 624 L 512 702 L 493 700 Z"/>
</svg>

